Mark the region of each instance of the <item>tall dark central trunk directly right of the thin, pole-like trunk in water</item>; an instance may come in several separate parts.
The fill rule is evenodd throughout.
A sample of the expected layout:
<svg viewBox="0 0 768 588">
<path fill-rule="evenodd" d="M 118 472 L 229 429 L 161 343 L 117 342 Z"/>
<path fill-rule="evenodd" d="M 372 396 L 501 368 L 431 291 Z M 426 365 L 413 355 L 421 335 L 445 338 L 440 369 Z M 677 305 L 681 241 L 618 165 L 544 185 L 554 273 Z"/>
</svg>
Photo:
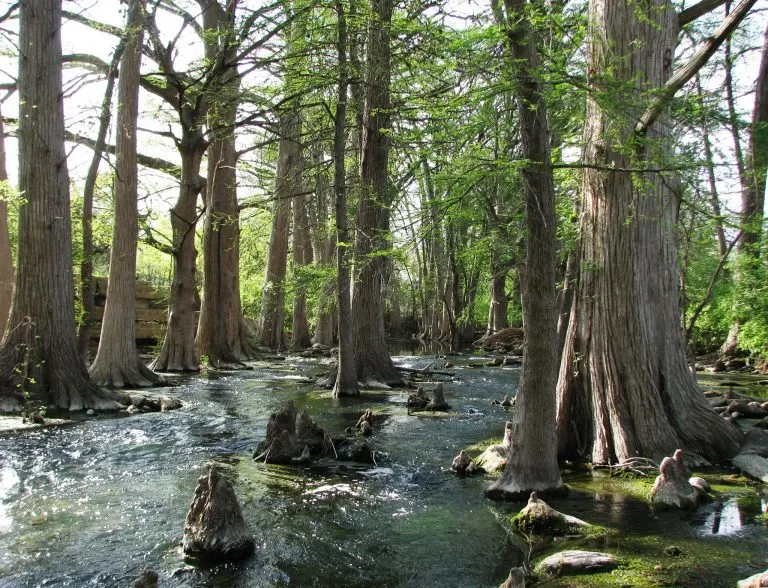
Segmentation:
<svg viewBox="0 0 768 588">
<path fill-rule="evenodd" d="M 384 333 L 383 292 L 389 234 L 390 27 L 392 0 L 371 0 L 366 57 L 360 200 L 355 232 L 356 279 L 352 296 L 358 380 L 402 384 Z M 341 331 L 341 326 L 339 326 Z"/>
</svg>

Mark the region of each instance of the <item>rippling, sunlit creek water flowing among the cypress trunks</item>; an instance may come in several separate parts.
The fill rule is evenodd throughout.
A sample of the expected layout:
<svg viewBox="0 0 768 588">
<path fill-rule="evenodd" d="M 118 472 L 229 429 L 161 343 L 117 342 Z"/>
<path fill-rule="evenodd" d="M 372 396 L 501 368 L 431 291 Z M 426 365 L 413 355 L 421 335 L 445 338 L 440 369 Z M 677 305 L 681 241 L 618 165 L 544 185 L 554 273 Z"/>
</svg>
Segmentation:
<svg viewBox="0 0 768 588">
<path fill-rule="evenodd" d="M 519 370 L 475 367 L 482 359 L 450 357 L 454 413 L 443 418 L 408 414 L 401 390 L 335 400 L 311 383 L 317 360 L 289 357 L 189 378 L 163 391 L 183 401 L 177 411 L 0 438 L 0 587 L 132 586 L 145 567 L 161 586 L 498 586 L 523 559 L 499 513 L 520 505 L 493 503 L 487 479 L 450 472 L 460 449 L 500 437 L 509 418 L 491 401 L 514 394 Z M 371 437 L 377 463 L 254 463 L 270 412 L 286 400 L 331 434 L 367 408 L 382 413 Z M 179 550 L 184 518 L 211 463 L 235 481 L 257 551 L 237 564 L 190 566 Z M 553 505 L 635 531 L 756 537 L 768 551 L 765 533 L 734 522 L 728 505 L 717 533 L 712 509 L 660 520 L 643 503 L 591 491 Z"/>
</svg>

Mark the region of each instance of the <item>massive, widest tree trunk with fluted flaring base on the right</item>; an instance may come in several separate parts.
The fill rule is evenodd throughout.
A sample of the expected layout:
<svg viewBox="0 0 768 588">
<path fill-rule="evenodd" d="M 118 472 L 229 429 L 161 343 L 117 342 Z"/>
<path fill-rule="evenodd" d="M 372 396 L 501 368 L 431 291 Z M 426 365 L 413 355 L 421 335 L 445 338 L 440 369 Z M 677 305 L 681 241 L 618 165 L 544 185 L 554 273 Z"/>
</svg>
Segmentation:
<svg viewBox="0 0 768 588">
<path fill-rule="evenodd" d="M 589 70 L 612 71 L 616 84 L 593 78 L 591 96 L 610 92 L 622 109 L 593 97 L 587 103 L 579 279 L 558 383 L 559 451 L 603 464 L 638 455 L 660 460 L 677 448 L 727 457 L 739 433 L 709 407 L 686 362 L 675 176 L 608 171 L 667 162 L 668 121 L 660 117 L 642 134 L 635 128 L 672 74 L 677 15 L 667 0 L 649 2 L 642 14 L 634 5 L 592 0 L 589 22 Z M 628 84 L 634 91 L 616 96 Z M 634 156 L 628 144 L 636 145 Z"/>
</svg>

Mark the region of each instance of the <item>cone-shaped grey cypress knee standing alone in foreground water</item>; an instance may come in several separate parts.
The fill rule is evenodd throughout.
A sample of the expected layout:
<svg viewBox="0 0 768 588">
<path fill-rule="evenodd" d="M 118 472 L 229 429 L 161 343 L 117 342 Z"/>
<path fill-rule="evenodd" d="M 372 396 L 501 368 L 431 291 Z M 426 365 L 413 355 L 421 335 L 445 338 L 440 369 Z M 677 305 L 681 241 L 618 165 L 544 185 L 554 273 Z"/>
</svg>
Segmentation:
<svg viewBox="0 0 768 588">
<path fill-rule="evenodd" d="M 182 547 L 189 556 L 213 561 L 240 559 L 253 552 L 253 537 L 235 491 L 215 466 L 197 480 Z"/>
</svg>

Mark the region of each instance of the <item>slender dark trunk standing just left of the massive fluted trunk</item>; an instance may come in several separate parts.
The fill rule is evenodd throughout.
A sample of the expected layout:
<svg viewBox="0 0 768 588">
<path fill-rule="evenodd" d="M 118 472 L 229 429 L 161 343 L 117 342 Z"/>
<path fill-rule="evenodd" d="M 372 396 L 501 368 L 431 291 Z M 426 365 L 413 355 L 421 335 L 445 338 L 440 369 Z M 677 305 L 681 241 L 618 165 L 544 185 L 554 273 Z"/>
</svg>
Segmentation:
<svg viewBox="0 0 768 588">
<path fill-rule="evenodd" d="M 505 6 L 508 47 L 517 81 L 522 155 L 530 162 L 521 172 L 527 228 L 526 262 L 520 269 L 523 315 L 525 324 L 536 325 L 536 329 L 525 329 L 525 351 L 507 465 L 486 493 L 519 500 L 532 491 L 559 492 L 563 488 L 554 435 L 557 216 L 546 106 L 536 78 L 535 35 L 525 24 L 525 0 L 505 0 Z"/>
</svg>

